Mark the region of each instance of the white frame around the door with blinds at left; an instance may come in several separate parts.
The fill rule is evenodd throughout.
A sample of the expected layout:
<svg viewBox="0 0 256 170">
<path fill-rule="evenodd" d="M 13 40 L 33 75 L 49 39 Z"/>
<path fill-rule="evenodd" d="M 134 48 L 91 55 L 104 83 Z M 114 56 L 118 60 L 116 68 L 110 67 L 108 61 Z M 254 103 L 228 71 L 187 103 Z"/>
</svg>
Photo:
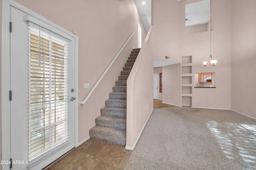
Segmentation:
<svg viewBox="0 0 256 170">
<path fill-rule="evenodd" d="M 32 10 L 22 6 L 14 0 L 2 0 L 2 51 L 1 51 L 1 139 L 2 139 L 2 159 L 10 160 L 10 6 L 13 6 L 34 18 L 45 23 L 58 32 L 64 32 L 75 40 L 75 96 L 78 96 L 78 36 L 68 30 L 61 28 L 57 24 L 36 14 Z M 75 147 L 78 146 L 78 101 L 75 100 Z M 9 169 L 9 164 L 3 164 L 2 169 Z"/>
</svg>

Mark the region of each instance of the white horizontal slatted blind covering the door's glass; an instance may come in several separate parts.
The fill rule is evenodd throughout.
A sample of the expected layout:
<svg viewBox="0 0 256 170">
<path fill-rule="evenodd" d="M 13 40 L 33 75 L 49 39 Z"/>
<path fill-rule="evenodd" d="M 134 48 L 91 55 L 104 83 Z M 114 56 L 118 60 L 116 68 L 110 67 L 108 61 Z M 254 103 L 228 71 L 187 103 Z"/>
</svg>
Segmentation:
<svg viewBox="0 0 256 170">
<path fill-rule="evenodd" d="M 28 30 L 28 159 L 32 160 L 69 140 L 68 42 L 39 26 Z"/>
</svg>

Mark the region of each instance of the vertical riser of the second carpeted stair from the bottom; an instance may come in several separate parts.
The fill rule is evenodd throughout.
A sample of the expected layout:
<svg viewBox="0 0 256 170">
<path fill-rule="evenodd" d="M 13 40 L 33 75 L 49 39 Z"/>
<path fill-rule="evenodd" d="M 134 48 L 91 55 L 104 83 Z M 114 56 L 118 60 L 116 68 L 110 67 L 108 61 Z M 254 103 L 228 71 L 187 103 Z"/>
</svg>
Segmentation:
<svg viewBox="0 0 256 170">
<path fill-rule="evenodd" d="M 95 119 L 96 126 L 126 130 L 126 119 L 118 121 Z"/>
</svg>

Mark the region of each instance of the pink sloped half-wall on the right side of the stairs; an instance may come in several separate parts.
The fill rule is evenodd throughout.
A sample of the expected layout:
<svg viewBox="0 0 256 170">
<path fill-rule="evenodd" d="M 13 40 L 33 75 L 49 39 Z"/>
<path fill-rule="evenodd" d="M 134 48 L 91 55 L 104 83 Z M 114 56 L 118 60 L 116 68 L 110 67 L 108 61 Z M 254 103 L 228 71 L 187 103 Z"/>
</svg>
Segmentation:
<svg viewBox="0 0 256 170">
<path fill-rule="evenodd" d="M 133 149 L 153 110 L 152 26 L 127 80 L 126 148 Z"/>
</svg>

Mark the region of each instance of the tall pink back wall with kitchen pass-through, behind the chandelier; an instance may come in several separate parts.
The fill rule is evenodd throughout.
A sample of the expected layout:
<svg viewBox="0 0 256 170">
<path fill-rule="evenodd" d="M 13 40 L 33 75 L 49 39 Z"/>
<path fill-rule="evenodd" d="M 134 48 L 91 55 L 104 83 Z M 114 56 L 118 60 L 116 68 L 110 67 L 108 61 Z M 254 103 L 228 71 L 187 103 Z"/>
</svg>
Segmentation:
<svg viewBox="0 0 256 170">
<path fill-rule="evenodd" d="M 180 1 L 180 56 L 192 55 L 192 107 L 231 109 L 230 4 L 231 0 L 212 0 L 212 56 L 218 63 L 203 67 L 210 55 L 210 32 L 185 34 L 185 2 Z M 208 72 L 216 75 L 216 89 L 194 88 L 194 73 Z"/>
</svg>

